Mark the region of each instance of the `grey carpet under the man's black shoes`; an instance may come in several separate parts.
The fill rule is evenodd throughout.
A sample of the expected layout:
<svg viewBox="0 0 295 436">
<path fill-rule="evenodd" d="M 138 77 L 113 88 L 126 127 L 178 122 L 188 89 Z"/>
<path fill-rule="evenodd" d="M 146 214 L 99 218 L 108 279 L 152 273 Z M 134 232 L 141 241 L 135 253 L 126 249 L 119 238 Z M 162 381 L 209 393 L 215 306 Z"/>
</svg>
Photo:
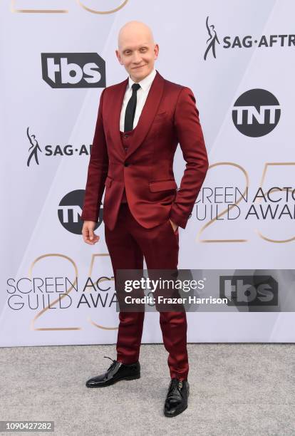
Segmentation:
<svg viewBox="0 0 295 436">
<path fill-rule="evenodd" d="M 139 380 L 100 389 L 85 382 L 108 368 L 103 355 L 115 358 L 115 346 L 0 348 L 0 420 L 54 420 L 55 435 L 295 435 L 293 344 L 202 343 L 188 351 L 189 408 L 167 418 L 162 344 L 141 346 Z"/>
</svg>

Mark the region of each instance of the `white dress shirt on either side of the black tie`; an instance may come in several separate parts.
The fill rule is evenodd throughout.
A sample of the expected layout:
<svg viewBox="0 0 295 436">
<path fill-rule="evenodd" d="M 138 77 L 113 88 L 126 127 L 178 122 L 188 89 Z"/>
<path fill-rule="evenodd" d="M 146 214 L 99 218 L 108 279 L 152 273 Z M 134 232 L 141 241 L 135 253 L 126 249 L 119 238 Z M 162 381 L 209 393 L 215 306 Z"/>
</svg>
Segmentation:
<svg viewBox="0 0 295 436">
<path fill-rule="evenodd" d="M 150 90 L 150 87 L 152 85 L 152 81 L 155 78 L 157 71 L 155 71 L 155 68 L 150 72 L 148 76 L 146 76 L 142 81 L 138 82 L 140 85 L 140 88 L 137 91 L 137 101 L 136 101 L 136 109 L 135 109 L 135 116 L 133 121 L 133 128 L 136 127 L 138 124 L 138 120 L 140 118 L 141 111 L 143 110 L 143 106 L 145 105 L 145 100 L 148 97 L 148 91 Z M 123 104 L 120 114 L 120 131 L 124 132 L 124 123 L 125 123 L 125 110 L 126 106 L 128 104 L 128 101 L 130 100 L 130 97 L 132 95 L 132 88 L 133 85 L 132 78 L 128 78 L 128 85 L 125 90 L 125 95 L 123 98 Z"/>
</svg>

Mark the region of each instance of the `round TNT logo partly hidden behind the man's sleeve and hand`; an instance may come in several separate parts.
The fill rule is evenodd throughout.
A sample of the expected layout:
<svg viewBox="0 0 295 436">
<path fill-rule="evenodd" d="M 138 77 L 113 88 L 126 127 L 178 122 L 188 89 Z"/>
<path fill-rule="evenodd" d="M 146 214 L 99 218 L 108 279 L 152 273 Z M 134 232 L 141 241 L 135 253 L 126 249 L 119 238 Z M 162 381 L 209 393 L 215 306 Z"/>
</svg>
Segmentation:
<svg viewBox="0 0 295 436">
<path fill-rule="evenodd" d="M 81 220 L 85 190 L 68 192 L 58 205 L 58 219 L 61 225 L 74 234 L 82 234 L 83 221 Z M 103 209 L 100 208 L 97 229 L 103 221 Z"/>
</svg>

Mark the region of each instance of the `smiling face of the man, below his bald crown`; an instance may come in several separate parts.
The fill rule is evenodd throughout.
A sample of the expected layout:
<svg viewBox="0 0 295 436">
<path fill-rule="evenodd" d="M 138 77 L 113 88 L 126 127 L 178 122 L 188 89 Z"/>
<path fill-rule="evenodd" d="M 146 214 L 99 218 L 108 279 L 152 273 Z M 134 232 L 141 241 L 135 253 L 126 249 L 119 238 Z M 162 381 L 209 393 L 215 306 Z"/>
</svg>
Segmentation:
<svg viewBox="0 0 295 436">
<path fill-rule="evenodd" d="M 115 53 L 130 78 L 138 83 L 148 76 L 154 68 L 159 46 L 149 41 L 147 37 L 125 36 L 120 41 L 120 46 Z"/>
</svg>

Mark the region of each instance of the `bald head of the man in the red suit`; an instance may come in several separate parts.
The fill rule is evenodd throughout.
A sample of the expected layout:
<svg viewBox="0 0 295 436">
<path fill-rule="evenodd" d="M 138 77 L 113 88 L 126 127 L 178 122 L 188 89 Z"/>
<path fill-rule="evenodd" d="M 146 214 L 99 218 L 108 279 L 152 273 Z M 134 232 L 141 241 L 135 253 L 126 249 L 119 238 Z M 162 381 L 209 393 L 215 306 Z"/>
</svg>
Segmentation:
<svg viewBox="0 0 295 436">
<path fill-rule="evenodd" d="M 129 21 L 120 28 L 118 50 L 115 53 L 130 78 L 137 83 L 154 68 L 159 46 L 155 44 L 152 31 L 146 24 Z"/>
</svg>

